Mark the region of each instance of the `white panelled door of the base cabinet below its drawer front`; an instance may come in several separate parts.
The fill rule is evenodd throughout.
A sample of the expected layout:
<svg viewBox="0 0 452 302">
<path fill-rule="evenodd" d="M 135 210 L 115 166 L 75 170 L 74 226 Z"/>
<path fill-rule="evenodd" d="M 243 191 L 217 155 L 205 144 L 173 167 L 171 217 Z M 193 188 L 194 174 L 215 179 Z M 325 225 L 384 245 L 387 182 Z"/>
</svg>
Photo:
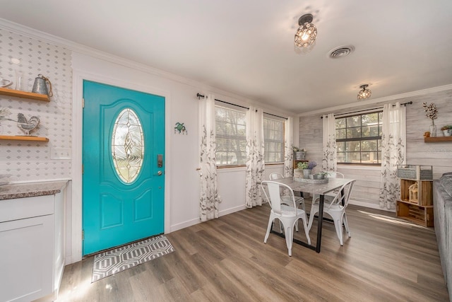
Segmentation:
<svg viewBox="0 0 452 302">
<path fill-rule="evenodd" d="M 52 293 L 53 215 L 0 223 L 0 301 Z"/>
</svg>

